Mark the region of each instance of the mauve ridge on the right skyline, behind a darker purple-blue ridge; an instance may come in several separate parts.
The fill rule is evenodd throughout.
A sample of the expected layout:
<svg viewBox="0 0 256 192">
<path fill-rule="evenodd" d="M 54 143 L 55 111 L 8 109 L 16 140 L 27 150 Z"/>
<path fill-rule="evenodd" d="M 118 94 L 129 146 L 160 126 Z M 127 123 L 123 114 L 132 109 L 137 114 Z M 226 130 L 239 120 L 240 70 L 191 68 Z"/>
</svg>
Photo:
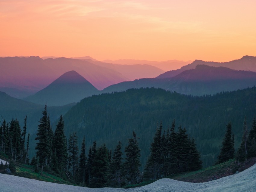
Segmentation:
<svg viewBox="0 0 256 192">
<path fill-rule="evenodd" d="M 229 62 L 211 62 L 211 61 L 202 61 L 195 60 L 194 62 L 181 67 L 177 70 L 167 71 L 156 78 L 170 78 L 174 77 L 181 72 L 189 69 L 195 69 L 197 65 L 208 65 L 213 67 L 227 67 L 234 70 L 243 70 L 243 71 L 254 71 L 256 72 L 256 57 L 253 56 L 243 56 L 241 59 L 229 61 Z"/>
</svg>

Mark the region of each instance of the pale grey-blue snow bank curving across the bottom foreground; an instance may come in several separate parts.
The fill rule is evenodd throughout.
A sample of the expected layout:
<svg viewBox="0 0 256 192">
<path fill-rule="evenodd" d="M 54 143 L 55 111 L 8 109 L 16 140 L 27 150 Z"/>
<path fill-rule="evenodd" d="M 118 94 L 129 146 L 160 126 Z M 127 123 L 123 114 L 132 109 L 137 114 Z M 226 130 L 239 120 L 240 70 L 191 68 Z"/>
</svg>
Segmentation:
<svg viewBox="0 0 256 192">
<path fill-rule="evenodd" d="M 256 191 L 256 164 L 236 175 L 230 175 L 214 181 L 205 183 L 188 183 L 176 181 L 173 179 L 160 179 L 143 187 L 133 189 L 117 189 L 117 188 L 96 188 L 77 187 L 65 184 L 49 183 L 45 181 L 37 181 L 13 175 L 0 174 L 0 191 L 84 191 L 84 192 L 171 192 L 171 191 Z"/>
</svg>

